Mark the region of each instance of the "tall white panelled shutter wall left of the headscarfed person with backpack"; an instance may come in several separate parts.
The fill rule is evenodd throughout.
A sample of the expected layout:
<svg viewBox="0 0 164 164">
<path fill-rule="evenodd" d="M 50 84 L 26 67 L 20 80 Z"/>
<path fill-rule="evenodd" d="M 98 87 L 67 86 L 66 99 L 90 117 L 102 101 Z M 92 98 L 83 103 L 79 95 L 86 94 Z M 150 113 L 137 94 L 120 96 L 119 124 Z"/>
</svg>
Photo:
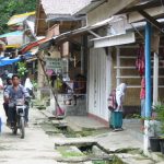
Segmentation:
<svg viewBox="0 0 164 164">
<path fill-rule="evenodd" d="M 110 91 L 110 56 L 104 48 L 90 50 L 89 113 L 108 120 L 107 98 Z"/>
</svg>

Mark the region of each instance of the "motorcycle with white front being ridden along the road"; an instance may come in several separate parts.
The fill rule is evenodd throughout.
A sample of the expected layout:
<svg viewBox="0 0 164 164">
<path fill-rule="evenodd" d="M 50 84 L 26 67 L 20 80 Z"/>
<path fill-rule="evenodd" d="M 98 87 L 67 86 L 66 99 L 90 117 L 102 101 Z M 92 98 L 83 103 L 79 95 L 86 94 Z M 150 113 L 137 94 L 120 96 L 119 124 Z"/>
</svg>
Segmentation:
<svg viewBox="0 0 164 164">
<path fill-rule="evenodd" d="M 24 99 L 16 99 L 15 102 L 15 122 L 11 127 L 12 132 L 14 134 L 17 133 L 17 129 L 20 129 L 21 132 L 21 139 L 24 139 L 25 137 L 25 108 L 27 106 L 25 105 Z"/>
</svg>

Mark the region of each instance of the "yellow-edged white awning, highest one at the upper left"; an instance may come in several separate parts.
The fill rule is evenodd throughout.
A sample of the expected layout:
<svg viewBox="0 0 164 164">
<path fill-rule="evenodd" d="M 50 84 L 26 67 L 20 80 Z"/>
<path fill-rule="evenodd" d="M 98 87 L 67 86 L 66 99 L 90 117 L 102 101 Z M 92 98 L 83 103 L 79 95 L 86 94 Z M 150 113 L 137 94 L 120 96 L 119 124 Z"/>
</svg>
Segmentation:
<svg viewBox="0 0 164 164">
<path fill-rule="evenodd" d="M 10 26 L 10 25 L 23 23 L 31 15 L 35 15 L 35 12 L 27 12 L 23 14 L 13 15 L 9 20 L 8 25 Z"/>
</svg>

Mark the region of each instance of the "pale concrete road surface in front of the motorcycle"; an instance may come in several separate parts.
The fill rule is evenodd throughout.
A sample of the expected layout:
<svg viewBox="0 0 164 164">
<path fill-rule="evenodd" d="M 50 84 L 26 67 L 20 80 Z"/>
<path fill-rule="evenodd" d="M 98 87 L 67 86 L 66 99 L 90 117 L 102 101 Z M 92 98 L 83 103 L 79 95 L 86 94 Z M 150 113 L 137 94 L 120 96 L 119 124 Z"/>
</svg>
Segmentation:
<svg viewBox="0 0 164 164">
<path fill-rule="evenodd" d="M 3 117 L 3 108 L 0 99 L 0 115 Z M 34 109 L 30 112 L 30 126 L 26 128 L 25 139 L 14 136 L 11 129 L 3 128 L 0 136 L 0 164 L 55 164 L 60 156 L 54 149 L 54 139 L 49 138 L 40 127 L 35 125 L 37 119 L 44 116 Z M 3 117 L 3 120 L 5 118 Z"/>
</svg>

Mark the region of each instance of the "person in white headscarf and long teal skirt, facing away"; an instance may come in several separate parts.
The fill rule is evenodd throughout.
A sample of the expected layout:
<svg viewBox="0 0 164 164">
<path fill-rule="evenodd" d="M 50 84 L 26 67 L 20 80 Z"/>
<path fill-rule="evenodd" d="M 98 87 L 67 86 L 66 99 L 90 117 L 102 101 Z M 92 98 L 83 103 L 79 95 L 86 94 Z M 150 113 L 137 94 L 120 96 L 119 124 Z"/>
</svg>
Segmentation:
<svg viewBox="0 0 164 164">
<path fill-rule="evenodd" d="M 122 104 L 124 104 L 126 90 L 127 90 L 127 84 L 125 83 L 121 83 L 116 87 L 117 107 L 112 113 L 112 126 L 114 128 L 114 131 L 124 130 L 122 129 Z"/>
</svg>

